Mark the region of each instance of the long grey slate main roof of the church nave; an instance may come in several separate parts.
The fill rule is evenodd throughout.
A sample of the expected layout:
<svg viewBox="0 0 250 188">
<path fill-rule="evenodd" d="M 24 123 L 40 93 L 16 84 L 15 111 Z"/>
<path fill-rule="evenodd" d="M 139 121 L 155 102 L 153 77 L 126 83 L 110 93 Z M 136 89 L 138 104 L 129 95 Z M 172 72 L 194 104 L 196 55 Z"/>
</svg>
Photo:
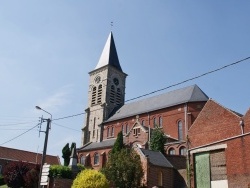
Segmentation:
<svg viewBox="0 0 250 188">
<path fill-rule="evenodd" d="M 147 113 L 178 104 L 184 104 L 187 102 L 207 101 L 208 99 L 208 96 L 197 85 L 192 85 L 140 101 L 125 104 L 105 122 Z"/>
</svg>

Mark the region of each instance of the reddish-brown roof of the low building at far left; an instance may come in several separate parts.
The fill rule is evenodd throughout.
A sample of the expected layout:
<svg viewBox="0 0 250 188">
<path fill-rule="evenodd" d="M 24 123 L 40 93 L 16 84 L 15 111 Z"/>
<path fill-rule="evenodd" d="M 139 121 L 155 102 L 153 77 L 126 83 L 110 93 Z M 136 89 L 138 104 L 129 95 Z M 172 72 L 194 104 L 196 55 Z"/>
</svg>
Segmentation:
<svg viewBox="0 0 250 188">
<path fill-rule="evenodd" d="M 40 164 L 42 161 L 42 154 L 0 146 L 0 159 Z M 45 162 L 51 165 L 61 164 L 59 157 L 52 155 L 46 155 Z"/>
</svg>

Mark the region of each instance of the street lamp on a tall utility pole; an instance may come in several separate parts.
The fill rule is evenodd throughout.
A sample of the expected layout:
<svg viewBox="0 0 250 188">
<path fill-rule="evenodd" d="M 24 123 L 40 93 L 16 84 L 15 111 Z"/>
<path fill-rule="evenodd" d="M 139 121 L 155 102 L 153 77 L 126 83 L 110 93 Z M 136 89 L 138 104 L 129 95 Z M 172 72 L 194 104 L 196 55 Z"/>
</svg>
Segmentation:
<svg viewBox="0 0 250 188">
<path fill-rule="evenodd" d="M 45 160 L 46 160 L 46 151 L 47 151 L 47 144 L 48 144 L 48 137 L 49 137 L 49 128 L 50 128 L 50 124 L 51 124 L 51 121 L 52 121 L 52 114 L 47 112 L 46 110 L 42 109 L 41 107 L 39 106 L 36 106 L 36 109 L 38 110 L 42 110 L 44 112 L 46 112 L 47 114 L 50 115 L 50 119 L 42 119 L 47 121 L 47 126 L 46 126 L 46 131 L 45 131 L 45 140 L 44 140 L 44 147 L 43 147 L 43 156 L 42 156 L 42 162 L 41 162 L 41 168 L 40 168 L 40 174 L 39 174 L 39 181 L 38 181 L 38 186 L 40 187 L 40 182 L 41 182 L 41 177 L 42 177 L 42 167 L 45 163 Z"/>
</svg>

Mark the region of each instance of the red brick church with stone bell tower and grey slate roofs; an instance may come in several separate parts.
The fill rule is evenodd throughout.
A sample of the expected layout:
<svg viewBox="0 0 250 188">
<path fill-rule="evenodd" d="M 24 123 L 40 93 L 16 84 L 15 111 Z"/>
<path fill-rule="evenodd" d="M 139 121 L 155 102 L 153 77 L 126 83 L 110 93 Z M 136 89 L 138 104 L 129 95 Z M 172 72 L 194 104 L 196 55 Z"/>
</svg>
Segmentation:
<svg viewBox="0 0 250 188">
<path fill-rule="evenodd" d="M 162 165 L 164 168 L 184 169 L 188 149 L 187 131 L 208 101 L 208 96 L 197 85 L 191 85 L 125 103 L 126 77 L 111 32 L 99 62 L 89 72 L 88 105 L 81 147 L 77 149 L 79 163 L 101 169 L 108 159 L 117 134 L 122 131 L 124 144 L 137 148 L 142 156 L 149 156 L 153 164 L 161 156 L 150 152 L 149 142 L 152 131 L 159 127 L 167 137 L 165 154 L 169 156 L 166 159 L 169 165 L 166 166 L 166 162 L 158 164 L 158 167 Z M 182 165 L 179 164 L 180 161 Z M 161 181 L 163 176 L 161 174 Z M 185 176 L 183 173 L 183 177 Z M 163 183 L 158 183 L 161 184 Z"/>
</svg>

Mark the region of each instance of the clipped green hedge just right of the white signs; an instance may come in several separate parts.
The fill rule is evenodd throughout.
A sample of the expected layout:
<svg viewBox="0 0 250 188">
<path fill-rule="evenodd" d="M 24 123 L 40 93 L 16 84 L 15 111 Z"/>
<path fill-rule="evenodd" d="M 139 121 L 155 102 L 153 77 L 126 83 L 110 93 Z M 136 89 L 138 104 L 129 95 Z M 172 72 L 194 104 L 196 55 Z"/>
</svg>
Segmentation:
<svg viewBox="0 0 250 188">
<path fill-rule="evenodd" d="M 49 169 L 49 176 L 54 178 L 72 179 L 72 170 L 67 166 L 51 165 Z"/>
</svg>

